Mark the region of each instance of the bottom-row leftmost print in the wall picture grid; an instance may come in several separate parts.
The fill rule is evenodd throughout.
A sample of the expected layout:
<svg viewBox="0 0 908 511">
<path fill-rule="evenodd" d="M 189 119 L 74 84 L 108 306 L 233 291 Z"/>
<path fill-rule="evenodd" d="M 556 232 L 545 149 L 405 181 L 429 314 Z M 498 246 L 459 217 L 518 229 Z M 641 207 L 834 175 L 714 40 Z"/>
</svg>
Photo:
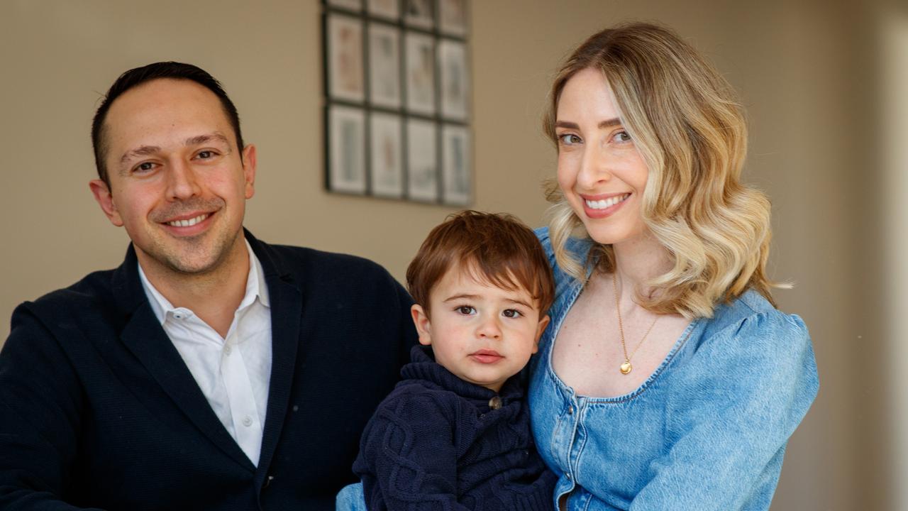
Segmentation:
<svg viewBox="0 0 908 511">
<path fill-rule="evenodd" d="M 328 189 L 366 193 L 365 113 L 360 108 L 328 108 Z"/>
</svg>

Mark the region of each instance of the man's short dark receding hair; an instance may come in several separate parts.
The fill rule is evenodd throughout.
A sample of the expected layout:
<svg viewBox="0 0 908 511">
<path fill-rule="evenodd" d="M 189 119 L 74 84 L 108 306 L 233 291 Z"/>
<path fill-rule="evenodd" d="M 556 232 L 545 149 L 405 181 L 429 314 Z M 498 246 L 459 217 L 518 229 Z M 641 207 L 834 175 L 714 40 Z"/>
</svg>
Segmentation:
<svg viewBox="0 0 908 511">
<path fill-rule="evenodd" d="M 212 91 L 214 95 L 221 100 L 224 114 L 230 120 L 233 128 L 233 134 L 236 135 L 236 146 L 240 151 L 242 158 L 242 133 L 240 132 L 240 115 L 236 112 L 236 106 L 224 92 L 221 83 L 209 75 L 204 69 L 192 64 L 183 64 L 180 62 L 155 62 L 154 64 L 136 67 L 120 75 L 114 85 L 104 95 L 104 101 L 98 106 L 98 111 L 94 114 L 92 121 L 92 146 L 94 147 L 94 165 L 98 169 L 98 176 L 110 186 L 110 179 L 107 176 L 107 167 L 104 166 L 104 158 L 107 155 L 107 144 L 104 141 L 104 120 L 107 118 L 107 111 L 116 98 L 123 95 L 124 92 L 152 80 L 161 78 L 170 78 L 172 80 L 192 80 L 196 84 L 202 85 Z"/>
</svg>

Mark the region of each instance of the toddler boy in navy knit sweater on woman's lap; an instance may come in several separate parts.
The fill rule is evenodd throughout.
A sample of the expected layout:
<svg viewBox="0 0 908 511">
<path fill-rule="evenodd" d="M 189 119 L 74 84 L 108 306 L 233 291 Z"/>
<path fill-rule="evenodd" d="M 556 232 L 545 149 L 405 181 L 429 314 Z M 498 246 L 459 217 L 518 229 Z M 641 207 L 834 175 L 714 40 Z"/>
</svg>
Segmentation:
<svg viewBox="0 0 908 511">
<path fill-rule="evenodd" d="M 555 293 L 536 235 L 510 215 L 454 215 L 407 285 L 423 346 L 363 432 L 353 471 L 368 508 L 551 509 L 519 376 Z"/>
</svg>

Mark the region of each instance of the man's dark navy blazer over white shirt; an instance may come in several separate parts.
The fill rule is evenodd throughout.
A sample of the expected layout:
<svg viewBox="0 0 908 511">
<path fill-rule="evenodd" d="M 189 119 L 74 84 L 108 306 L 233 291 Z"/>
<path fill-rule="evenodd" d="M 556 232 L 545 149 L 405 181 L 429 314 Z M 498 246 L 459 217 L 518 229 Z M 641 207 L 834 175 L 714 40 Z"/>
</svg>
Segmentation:
<svg viewBox="0 0 908 511">
<path fill-rule="evenodd" d="M 0 509 L 333 509 L 416 333 L 410 296 L 350 255 L 246 233 L 271 298 L 259 466 L 215 416 L 123 265 L 18 306 L 0 352 Z"/>
</svg>

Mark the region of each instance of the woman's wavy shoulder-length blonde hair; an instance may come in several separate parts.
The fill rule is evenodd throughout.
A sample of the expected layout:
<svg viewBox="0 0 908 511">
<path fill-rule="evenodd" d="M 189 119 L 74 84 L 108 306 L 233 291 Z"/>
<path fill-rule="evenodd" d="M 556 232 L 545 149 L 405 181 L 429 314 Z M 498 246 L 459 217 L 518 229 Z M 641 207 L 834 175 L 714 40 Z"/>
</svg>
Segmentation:
<svg viewBox="0 0 908 511">
<path fill-rule="evenodd" d="M 556 147 L 559 96 L 571 76 L 587 68 L 605 75 L 646 162 L 643 220 L 674 261 L 648 283 L 658 292 L 637 293 L 638 303 L 659 314 L 711 317 L 719 302 L 755 289 L 775 305 L 770 288 L 782 286 L 765 275 L 769 200 L 741 183 L 747 128 L 731 85 L 665 27 L 634 23 L 603 30 L 570 55 L 552 85 L 543 127 Z M 584 262 L 566 249 L 583 224 L 556 180 L 548 181 L 546 193 L 558 266 L 586 282 Z M 594 246 L 589 259 L 600 271 L 614 271 L 611 245 Z"/>
</svg>

